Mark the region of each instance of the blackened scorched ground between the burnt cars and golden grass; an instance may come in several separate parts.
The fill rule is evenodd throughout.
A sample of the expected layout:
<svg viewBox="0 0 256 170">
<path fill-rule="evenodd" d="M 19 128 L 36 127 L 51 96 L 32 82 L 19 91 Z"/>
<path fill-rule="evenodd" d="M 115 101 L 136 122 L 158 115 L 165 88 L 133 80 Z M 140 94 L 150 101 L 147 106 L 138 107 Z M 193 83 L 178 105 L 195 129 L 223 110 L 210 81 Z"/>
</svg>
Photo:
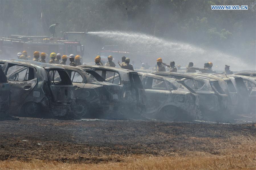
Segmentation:
<svg viewBox="0 0 256 170">
<path fill-rule="evenodd" d="M 87 120 L 21 117 L 0 121 L 0 160 L 118 162 L 122 159 L 113 155 L 220 154 L 243 141 L 256 142 L 254 123 Z"/>
</svg>

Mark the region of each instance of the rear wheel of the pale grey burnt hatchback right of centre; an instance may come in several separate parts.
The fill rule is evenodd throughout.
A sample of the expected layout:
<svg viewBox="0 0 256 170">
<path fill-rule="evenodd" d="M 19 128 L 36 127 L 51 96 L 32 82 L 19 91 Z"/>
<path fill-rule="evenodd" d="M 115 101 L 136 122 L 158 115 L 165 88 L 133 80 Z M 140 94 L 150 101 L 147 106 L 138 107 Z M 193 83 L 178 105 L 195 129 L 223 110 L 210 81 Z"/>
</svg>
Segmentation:
<svg viewBox="0 0 256 170">
<path fill-rule="evenodd" d="M 165 106 L 161 109 L 157 118 L 161 120 L 174 121 L 179 117 L 179 109 L 175 106 Z"/>
</svg>

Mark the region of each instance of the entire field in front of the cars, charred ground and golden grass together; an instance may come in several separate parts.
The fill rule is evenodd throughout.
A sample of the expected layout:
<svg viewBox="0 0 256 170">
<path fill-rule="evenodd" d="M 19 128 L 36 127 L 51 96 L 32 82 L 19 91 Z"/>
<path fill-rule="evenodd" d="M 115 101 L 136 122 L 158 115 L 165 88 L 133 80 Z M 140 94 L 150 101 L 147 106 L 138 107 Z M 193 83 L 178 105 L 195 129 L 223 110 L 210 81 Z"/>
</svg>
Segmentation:
<svg viewBox="0 0 256 170">
<path fill-rule="evenodd" d="M 0 169 L 256 169 L 256 125 L 0 121 Z"/>
</svg>

